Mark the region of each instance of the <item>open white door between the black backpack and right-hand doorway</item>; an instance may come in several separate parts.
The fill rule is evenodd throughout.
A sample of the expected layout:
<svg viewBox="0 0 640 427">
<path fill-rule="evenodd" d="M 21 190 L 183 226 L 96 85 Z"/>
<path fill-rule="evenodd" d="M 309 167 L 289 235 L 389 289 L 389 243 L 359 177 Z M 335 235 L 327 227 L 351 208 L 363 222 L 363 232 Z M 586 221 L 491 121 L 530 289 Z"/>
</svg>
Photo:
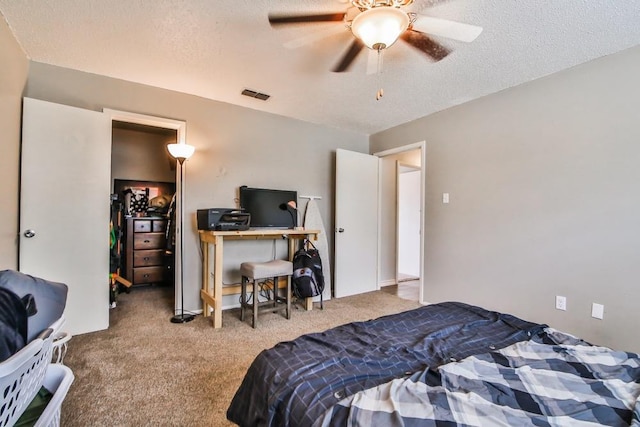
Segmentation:
<svg viewBox="0 0 640 427">
<path fill-rule="evenodd" d="M 336 152 L 336 298 L 378 289 L 379 159 Z"/>
</svg>

